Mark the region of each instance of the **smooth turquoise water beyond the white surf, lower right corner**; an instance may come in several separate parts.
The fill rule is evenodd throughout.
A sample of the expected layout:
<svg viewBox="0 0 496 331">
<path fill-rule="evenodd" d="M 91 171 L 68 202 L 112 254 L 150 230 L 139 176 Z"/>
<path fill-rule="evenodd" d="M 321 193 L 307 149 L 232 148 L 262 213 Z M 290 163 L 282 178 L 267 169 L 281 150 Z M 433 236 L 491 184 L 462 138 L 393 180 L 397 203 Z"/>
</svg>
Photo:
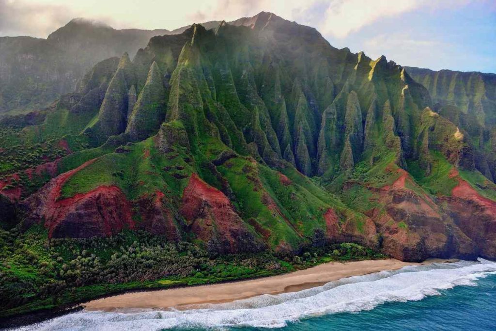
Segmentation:
<svg viewBox="0 0 496 331">
<path fill-rule="evenodd" d="M 304 319 L 276 330 L 496 330 L 496 275 L 478 280 L 477 286 L 458 286 L 440 293 L 421 301 L 386 303 L 371 311 Z"/>
</svg>

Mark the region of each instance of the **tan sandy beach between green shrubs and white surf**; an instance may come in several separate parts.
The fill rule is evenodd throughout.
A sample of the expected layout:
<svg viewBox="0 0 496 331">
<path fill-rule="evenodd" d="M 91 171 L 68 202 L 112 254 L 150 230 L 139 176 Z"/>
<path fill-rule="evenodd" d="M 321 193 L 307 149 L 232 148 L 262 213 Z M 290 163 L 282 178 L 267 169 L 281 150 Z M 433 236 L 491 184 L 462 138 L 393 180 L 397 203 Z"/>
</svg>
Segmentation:
<svg viewBox="0 0 496 331">
<path fill-rule="evenodd" d="M 445 260 L 428 260 L 422 264 L 445 262 Z M 278 294 L 295 292 L 314 286 L 323 285 L 329 281 L 345 277 L 364 275 L 382 270 L 399 269 L 405 265 L 419 265 L 418 263 L 401 262 L 395 259 L 330 262 L 305 270 L 292 273 L 244 280 L 238 282 L 181 287 L 174 289 L 132 292 L 92 300 L 82 304 L 85 310 L 123 311 L 133 308 L 191 308 L 190 305 L 204 303 L 221 303 L 246 299 L 261 294 Z"/>
</svg>

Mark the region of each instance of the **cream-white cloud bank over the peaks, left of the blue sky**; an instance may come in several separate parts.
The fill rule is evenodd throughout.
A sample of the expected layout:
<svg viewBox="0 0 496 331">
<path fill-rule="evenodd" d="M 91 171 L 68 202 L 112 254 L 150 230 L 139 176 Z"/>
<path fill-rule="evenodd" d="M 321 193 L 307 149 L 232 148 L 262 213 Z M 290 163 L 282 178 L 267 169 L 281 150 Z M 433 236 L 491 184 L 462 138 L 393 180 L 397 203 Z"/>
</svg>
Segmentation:
<svg viewBox="0 0 496 331">
<path fill-rule="evenodd" d="M 385 18 L 489 0 L 0 0 L 0 35 L 46 37 L 73 17 L 104 20 L 115 28 L 175 29 L 210 20 L 227 21 L 271 11 L 317 28 L 324 36 L 347 36 Z M 491 3 L 489 1 L 488 3 Z M 194 9 L 192 9 L 194 8 Z"/>
</svg>

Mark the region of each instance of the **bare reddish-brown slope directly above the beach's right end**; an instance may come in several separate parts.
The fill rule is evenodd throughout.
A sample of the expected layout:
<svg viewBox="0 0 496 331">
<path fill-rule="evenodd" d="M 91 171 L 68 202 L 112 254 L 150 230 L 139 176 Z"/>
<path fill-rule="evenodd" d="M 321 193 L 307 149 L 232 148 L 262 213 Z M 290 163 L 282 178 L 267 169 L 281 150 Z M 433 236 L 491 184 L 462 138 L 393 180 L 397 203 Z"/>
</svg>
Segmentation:
<svg viewBox="0 0 496 331">
<path fill-rule="evenodd" d="M 385 253 L 407 261 L 420 261 L 430 256 L 474 254 L 472 241 L 450 220 L 444 210 L 421 192 L 410 175 L 396 170 L 399 177 L 392 185 L 376 190 L 383 207 L 367 214 L 382 235 Z"/>
</svg>

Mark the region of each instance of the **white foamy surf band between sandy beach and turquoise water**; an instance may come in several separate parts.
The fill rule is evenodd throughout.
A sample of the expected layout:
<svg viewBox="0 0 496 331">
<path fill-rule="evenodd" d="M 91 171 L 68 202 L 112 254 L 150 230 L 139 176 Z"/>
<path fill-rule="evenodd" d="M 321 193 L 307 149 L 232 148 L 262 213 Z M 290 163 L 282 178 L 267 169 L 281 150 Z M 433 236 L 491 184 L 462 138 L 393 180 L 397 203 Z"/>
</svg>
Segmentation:
<svg viewBox="0 0 496 331">
<path fill-rule="evenodd" d="M 461 261 L 406 266 L 327 283 L 300 292 L 261 295 L 231 303 L 185 311 L 134 313 L 79 312 L 21 330 L 162 330 L 171 328 L 227 329 L 233 326 L 280 328 L 302 318 L 371 310 L 385 302 L 421 300 L 457 285 L 476 285 L 496 274 L 496 263 Z"/>
</svg>

